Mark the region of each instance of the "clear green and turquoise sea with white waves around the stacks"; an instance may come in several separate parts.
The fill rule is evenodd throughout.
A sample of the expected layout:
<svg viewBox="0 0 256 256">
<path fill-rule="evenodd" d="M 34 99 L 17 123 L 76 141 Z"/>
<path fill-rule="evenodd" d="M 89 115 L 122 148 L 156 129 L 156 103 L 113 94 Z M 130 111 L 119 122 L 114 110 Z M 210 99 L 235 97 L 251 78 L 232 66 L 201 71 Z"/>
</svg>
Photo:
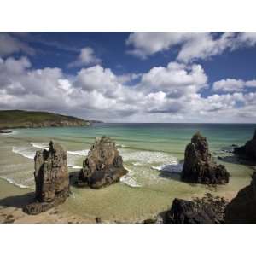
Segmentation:
<svg viewBox="0 0 256 256">
<path fill-rule="evenodd" d="M 95 190 L 72 187 L 73 194 L 64 204 L 67 211 L 97 216 L 113 222 L 138 221 L 166 210 L 175 197 L 203 195 L 210 188 L 182 183 L 183 153 L 196 131 L 207 137 L 212 154 L 230 156 L 224 164 L 231 174 L 230 183 L 210 189 L 218 195 L 233 195 L 250 181 L 253 168 L 236 162 L 224 149 L 241 145 L 253 136 L 256 125 L 184 124 L 99 124 L 92 127 L 17 129 L 0 136 L 0 177 L 16 187 L 34 189 L 33 156 L 47 148 L 49 140 L 67 148 L 70 172 L 78 172 L 95 137 L 112 137 L 125 167 L 129 170 L 121 183 Z M 22 190 L 22 189 L 21 189 Z M 2 191 L 4 195 L 4 192 Z"/>
</svg>

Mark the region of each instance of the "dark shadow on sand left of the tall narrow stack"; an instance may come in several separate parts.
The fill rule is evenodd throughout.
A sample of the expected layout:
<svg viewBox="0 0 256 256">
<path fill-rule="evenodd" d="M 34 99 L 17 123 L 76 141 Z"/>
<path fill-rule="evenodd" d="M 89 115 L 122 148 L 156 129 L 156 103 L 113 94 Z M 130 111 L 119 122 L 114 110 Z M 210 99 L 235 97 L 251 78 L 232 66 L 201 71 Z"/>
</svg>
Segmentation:
<svg viewBox="0 0 256 256">
<path fill-rule="evenodd" d="M 27 204 L 31 203 L 35 198 L 35 193 L 30 192 L 25 195 L 8 196 L 0 200 L 1 207 L 16 207 L 24 208 Z"/>
</svg>

